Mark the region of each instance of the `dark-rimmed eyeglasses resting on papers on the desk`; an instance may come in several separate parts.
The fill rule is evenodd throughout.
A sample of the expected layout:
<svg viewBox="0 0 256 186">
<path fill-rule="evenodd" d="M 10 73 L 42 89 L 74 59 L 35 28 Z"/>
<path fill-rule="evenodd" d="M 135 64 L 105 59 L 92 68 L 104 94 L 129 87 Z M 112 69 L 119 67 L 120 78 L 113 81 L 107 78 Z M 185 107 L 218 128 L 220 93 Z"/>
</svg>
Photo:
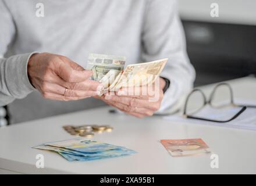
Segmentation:
<svg viewBox="0 0 256 186">
<path fill-rule="evenodd" d="M 226 89 L 227 92 L 223 91 L 224 89 Z M 199 96 L 199 99 L 197 98 L 192 100 L 191 98 L 193 98 L 195 94 Z M 218 99 L 218 98 L 221 98 L 221 99 Z M 190 104 L 191 100 L 194 101 L 193 104 Z M 209 119 L 209 118 L 196 116 L 197 113 L 200 112 L 206 106 L 209 106 L 212 109 L 223 109 L 223 108 L 236 108 L 236 109 L 233 109 L 235 110 L 235 113 L 232 112 L 232 116 L 229 119 L 216 120 L 216 119 Z M 183 115 L 184 117 L 189 119 L 225 123 L 225 122 L 236 119 L 247 108 L 256 108 L 256 106 L 235 104 L 232 87 L 227 83 L 220 83 L 214 87 L 214 90 L 212 90 L 209 96 L 209 101 L 207 101 L 207 98 L 204 92 L 202 92 L 200 89 L 194 89 L 193 91 L 191 91 L 190 94 L 187 96 Z M 223 115 L 224 114 L 225 113 L 223 113 Z M 212 115 L 214 115 L 214 113 Z"/>
</svg>

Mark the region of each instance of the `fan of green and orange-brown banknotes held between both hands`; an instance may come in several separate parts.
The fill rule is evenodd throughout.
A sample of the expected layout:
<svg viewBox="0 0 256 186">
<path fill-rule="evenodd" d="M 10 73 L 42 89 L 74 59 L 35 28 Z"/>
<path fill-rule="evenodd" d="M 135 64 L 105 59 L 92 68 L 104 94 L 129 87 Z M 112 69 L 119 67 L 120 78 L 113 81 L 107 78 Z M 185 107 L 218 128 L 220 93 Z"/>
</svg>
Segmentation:
<svg viewBox="0 0 256 186">
<path fill-rule="evenodd" d="M 125 70 L 124 56 L 104 55 L 90 53 L 87 69 L 93 70 L 92 79 L 103 84 L 104 90 L 100 95 L 108 91 L 118 91 L 123 87 L 140 87 L 155 82 L 167 58 L 147 63 L 128 65 Z"/>
</svg>

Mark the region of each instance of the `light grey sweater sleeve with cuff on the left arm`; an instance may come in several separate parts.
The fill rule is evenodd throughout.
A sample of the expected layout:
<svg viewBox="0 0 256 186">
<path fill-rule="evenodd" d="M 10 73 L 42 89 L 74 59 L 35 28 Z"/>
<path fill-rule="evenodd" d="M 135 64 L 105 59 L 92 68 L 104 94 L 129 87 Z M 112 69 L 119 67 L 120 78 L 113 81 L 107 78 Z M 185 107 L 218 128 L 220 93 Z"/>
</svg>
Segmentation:
<svg viewBox="0 0 256 186">
<path fill-rule="evenodd" d="M 0 55 L 15 37 L 15 24 L 5 3 L 0 0 Z M 0 106 L 7 105 L 16 98 L 24 98 L 35 90 L 27 76 L 27 62 L 33 53 L 0 58 Z"/>
</svg>

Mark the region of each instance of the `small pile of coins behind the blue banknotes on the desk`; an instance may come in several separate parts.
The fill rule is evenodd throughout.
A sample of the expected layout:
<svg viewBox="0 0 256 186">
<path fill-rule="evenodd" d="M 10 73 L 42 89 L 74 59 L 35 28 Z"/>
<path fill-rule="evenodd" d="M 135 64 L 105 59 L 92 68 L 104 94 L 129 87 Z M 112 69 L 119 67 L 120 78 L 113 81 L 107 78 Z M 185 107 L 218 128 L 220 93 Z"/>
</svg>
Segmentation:
<svg viewBox="0 0 256 186">
<path fill-rule="evenodd" d="M 64 130 L 71 135 L 80 135 L 81 137 L 93 137 L 94 133 L 111 132 L 110 126 L 85 125 L 85 126 L 63 126 Z"/>
</svg>

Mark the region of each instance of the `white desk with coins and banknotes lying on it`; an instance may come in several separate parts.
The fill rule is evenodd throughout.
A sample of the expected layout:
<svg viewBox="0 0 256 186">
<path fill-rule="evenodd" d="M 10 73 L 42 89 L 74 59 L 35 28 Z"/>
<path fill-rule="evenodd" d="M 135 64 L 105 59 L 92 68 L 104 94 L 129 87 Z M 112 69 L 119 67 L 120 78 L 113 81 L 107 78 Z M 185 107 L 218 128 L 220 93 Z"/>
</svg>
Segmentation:
<svg viewBox="0 0 256 186">
<path fill-rule="evenodd" d="M 256 79 L 230 81 L 237 98 L 256 100 Z M 206 92 L 212 85 L 202 87 Z M 137 119 L 98 108 L 0 128 L 0 173 L 172 174 L 256 173 L 256 131 L 175 123 L 160 116 Z M 40 106 L 38 106 L 40 112 Z M 43 142 L 72 138 L 65 124 L 110 124 L 112 133 L 93 140 L 122 145 L 138 153 L 90 162 L 67 162 L 53 152 L 33 149 Z M 219 155 L 219 169 L 211 169 L 210 155 L 173 158 L 161 139 L 202 138 Z M 35 156 L 44 155 L 45 168 L 35 167 Z"/>
</svg>

